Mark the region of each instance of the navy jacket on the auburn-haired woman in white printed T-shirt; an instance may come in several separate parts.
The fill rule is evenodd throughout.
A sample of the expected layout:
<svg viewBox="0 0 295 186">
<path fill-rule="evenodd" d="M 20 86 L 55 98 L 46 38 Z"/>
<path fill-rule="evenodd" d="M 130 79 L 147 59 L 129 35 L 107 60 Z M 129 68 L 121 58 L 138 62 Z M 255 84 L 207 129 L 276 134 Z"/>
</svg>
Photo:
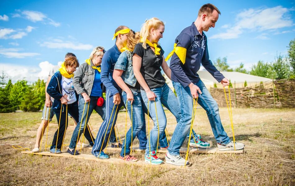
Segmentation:
<svg viewBox="0 0 295 186">
<path fill-rule="evenodd" d="M 47 86 L 47 93 L 50 95 L 50 97 L 54 98 L 53 104 L 52 104 L 52 110 L 54 112 L 60 112 L 61 110 L 61 97 L 62 97 L 62 87 L 61 87 L 61 73 L 57 71 L 51 78 L 50 82 L 48 83 Z M 78 101 L 78 94 L 75 91 L 76 98 Z M 76 101 L 76 102 L 77 102 Z M 63 112 L 63 111 L 62 111 Z"/>
</svg>

